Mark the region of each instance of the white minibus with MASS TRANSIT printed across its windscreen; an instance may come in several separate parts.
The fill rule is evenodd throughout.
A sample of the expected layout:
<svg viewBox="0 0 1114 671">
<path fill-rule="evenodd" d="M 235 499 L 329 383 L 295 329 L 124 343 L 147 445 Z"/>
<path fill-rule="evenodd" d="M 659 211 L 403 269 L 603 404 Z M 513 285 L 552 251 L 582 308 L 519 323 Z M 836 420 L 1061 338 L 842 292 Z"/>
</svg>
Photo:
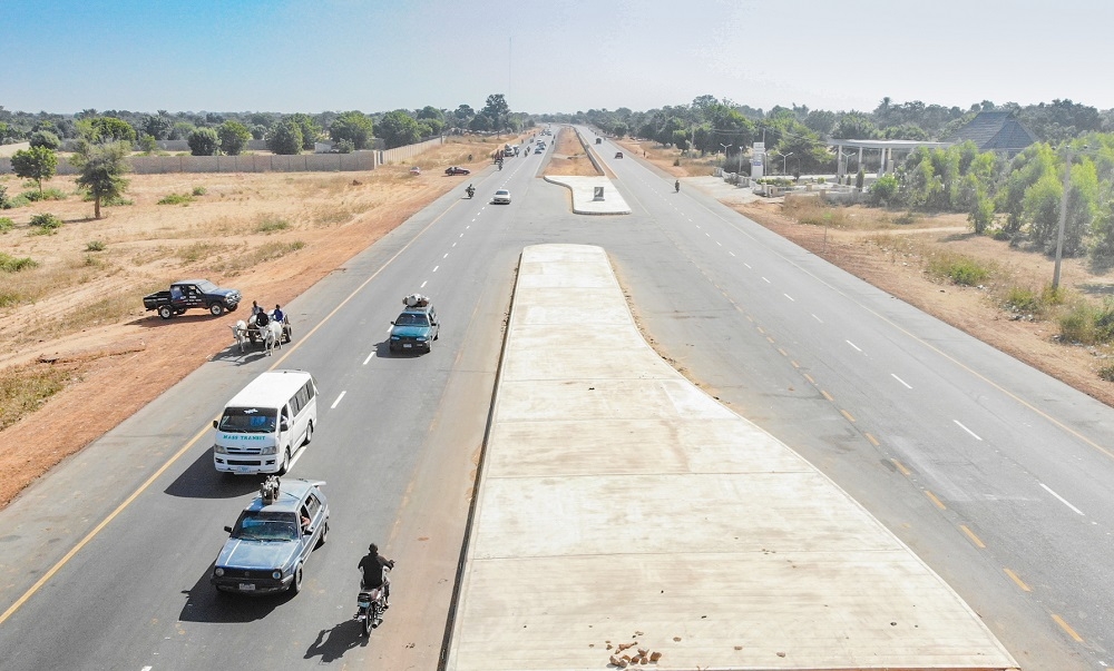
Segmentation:
<svg viewBox="0 0 1114 671">
<path fill-rule="evenodd" d="M 268 371 L 213 421 L 213 464 L 222 473 L 277 473 L 313 437 L 317 385 L 305 371 Z"/>
</svg>

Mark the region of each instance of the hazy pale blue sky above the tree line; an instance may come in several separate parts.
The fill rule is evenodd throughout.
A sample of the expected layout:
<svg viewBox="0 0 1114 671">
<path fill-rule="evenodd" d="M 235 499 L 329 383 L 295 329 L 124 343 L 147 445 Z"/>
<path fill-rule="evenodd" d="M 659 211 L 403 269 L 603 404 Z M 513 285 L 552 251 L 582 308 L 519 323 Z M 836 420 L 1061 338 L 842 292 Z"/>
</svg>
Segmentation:
<svg viewBox="0 0 1114 671">
<path fill-rule="evenodd" d="M 9 110 L 1114 108 L 1114 1 L 0 0 Z"/>
</svg>

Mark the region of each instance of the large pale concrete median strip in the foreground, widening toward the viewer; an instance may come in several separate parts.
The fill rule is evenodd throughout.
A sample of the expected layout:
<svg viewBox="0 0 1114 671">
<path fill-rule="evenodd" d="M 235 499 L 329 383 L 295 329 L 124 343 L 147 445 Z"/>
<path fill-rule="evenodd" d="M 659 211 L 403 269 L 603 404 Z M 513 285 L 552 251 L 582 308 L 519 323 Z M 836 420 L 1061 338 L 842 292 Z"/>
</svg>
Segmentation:
<svg viewBox="0 0 1114 671">
<path fill-rule="evenodd" d="M 1017 667 L 842 490 L 654 353 L 598 247 L 522 254 L 476 496 L 450 671 Z"/>
</svg>

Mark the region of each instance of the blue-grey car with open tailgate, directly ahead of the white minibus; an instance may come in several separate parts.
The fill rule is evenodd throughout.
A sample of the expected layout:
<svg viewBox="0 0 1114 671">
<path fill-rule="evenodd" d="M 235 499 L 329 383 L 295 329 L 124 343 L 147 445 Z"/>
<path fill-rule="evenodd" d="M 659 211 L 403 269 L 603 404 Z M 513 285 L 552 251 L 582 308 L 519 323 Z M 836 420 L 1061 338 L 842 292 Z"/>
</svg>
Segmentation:
<svg viewBox="0 0 1114 671">
<path fill-rule="evenodd" d="M 213 586 L 241 594 L 299 593 L 302 565 L 329 534 L 323 484 L 266 478 L 236 525 L 224 527 L 229 535 L 213 566 Z"/>
</svg>

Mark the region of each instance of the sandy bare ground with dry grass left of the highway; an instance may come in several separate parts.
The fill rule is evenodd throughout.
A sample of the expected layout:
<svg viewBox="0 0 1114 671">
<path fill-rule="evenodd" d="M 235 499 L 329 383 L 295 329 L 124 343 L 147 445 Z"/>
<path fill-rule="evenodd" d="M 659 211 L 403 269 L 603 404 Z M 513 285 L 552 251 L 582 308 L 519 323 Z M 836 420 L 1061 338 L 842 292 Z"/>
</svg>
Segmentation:
<svg viewBox="0 0 1114 671">
<path fill-rule="evenodd" d="M 367 172 L 134 175 L 134 204 L 106 208 L 100 220 L 76 195 L 3 211 L 16 227 L 0 235 L 0 251 L 39 265 L 0 273 L 0 297 L 23 297 L 0 307 L 0 388 L 43 375 L 62 388 L 31 399 L 37 409 L 0 431 L 0 505 L 226 348 L 228 325 L 253 299 L 287 303 L 467 179 L 446 177 L 444 167 L 482 169 L 505 140 L 453 140 Z M 410 175 L 411 165 L 423 172 Z M 11 176 L 0 184 L 26 190 Z M 72 178 L 45 186 L 75 191 Z M 185 204 L 158 205 L 195 190 Z M 37 213 L 65 225 L 32 235 Z M 87 250 L 92 241 L 104 249 Z M 245 308 L 167 322 L 144 312 L 146 293 L 187 277 L 238 288 Z"/>
</svg>

